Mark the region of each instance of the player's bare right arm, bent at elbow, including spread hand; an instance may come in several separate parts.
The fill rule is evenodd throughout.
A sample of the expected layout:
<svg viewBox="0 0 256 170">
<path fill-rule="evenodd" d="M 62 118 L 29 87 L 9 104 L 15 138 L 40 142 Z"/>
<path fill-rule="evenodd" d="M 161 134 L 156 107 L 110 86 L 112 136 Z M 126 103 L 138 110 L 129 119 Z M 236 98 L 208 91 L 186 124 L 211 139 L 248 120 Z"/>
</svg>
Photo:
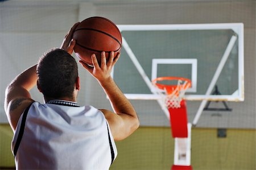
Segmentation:
<svg viewBox="0 0 256 170">
<path fill-rule="evenodd" d="M 80 63 L 98 80 L 98 82 L 100 82 L 100 85 L 108 95 L 115 113 L 104 109 L 101 111 L 109 122 L 113 138 L 115 140 L 122 140 L 131 135 L 139 127 L 139 120 L 134 107 L 123 95 L 121 90 L 115 84 L 113 78 L 110 76 L 112 68 L 118 58 L 119 54 L 114 59 L 114 52 L 111 52 L 107 63 L 105 52 L 102 52 L 101 66 L 98 64 L 95 55 L 92 55 L 93 68 L 82 61 L 80 61 Z"/>
</svg>

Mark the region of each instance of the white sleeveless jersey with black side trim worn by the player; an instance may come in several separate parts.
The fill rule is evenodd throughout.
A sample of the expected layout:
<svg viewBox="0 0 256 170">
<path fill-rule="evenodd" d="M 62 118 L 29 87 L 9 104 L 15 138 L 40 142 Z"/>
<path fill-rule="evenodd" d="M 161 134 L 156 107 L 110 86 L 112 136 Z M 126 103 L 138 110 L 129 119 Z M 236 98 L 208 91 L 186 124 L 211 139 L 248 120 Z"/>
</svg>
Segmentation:
<svg viewBox="0 0 256 170">
<path fill-rule="evenodd" d="M 117 156 L 100 110 L 60 100 L 32 103 L 20 116 L 11 148 L 17 169 L 109 169 Z"/>
</svg>

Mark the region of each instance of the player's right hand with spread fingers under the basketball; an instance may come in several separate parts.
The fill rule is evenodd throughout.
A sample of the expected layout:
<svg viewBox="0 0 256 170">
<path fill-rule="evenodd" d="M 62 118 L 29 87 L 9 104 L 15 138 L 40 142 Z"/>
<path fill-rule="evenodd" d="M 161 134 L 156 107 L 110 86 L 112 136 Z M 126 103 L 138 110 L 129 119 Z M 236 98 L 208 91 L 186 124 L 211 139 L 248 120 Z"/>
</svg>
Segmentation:
<svg viewBox="0 0 256 170">
<path fill-rule="evenodd" d="M 88 70 L 92 74 L 93 77 L 95 77 L 100 83 L 104 81 L 108 81 L 110 78 L 110 73 L 112 72 L 112 69 L 117 63 L 117 60 L 119 59 L 120 53 L 114 58 L 114 52 L 112 51 L 110 53 L 110 57 L 108 62 L 106 61 L 105 52 L 101 52 L 101 65 L 98 64 L 96 55 L 92 55 L 92 63 L 94 67 L 90 67 L 84 61 L 80 60 L 79 63 L 82 64 L 82 66 Z"/>
</svg>

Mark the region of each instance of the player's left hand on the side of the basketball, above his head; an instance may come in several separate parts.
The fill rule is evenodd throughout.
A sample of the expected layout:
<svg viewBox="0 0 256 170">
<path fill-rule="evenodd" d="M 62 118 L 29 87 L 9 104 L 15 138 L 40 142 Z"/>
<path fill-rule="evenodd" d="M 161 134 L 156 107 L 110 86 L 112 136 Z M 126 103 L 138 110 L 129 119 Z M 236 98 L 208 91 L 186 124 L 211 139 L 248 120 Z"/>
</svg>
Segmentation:
<svg viewBox="0 0 256 170">
<path fill-rule="evenodd" d="M 79 25 L 80 22 L 77 22 L 73 25 L 73 27 L 68 31 L 67 35 L 63 39 L 62 44 L 60 45 L 61 49 L 67 51 L 70 55 L 73 53 L 73 48 L 76 45 L 76 40 L 72 39 L 73 32 L 75 31 L 76 27 Z"/>
</svg>

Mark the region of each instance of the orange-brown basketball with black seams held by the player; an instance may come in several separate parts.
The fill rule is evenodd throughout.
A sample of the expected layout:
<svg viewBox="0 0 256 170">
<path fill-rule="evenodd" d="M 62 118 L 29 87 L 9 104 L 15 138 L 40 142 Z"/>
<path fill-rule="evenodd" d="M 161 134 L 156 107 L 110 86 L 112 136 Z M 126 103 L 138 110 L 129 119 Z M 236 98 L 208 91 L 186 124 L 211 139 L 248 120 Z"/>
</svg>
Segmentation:
<svg viewBox="0 0 256 170">
<path fill-rule="evenodd" d="M 106 60 L 110 52 L 114 57 L 121 50 L 122 36 L 118 27 L 109 19 L 94 16 L 83 20 L 73 33 L 76 40 L 74 51 L 86 64 L 92 65 L 92 53 L 96 54 L 98 63 L 101 62 L 101 52 L 106 52 Z"/>
</svg>

